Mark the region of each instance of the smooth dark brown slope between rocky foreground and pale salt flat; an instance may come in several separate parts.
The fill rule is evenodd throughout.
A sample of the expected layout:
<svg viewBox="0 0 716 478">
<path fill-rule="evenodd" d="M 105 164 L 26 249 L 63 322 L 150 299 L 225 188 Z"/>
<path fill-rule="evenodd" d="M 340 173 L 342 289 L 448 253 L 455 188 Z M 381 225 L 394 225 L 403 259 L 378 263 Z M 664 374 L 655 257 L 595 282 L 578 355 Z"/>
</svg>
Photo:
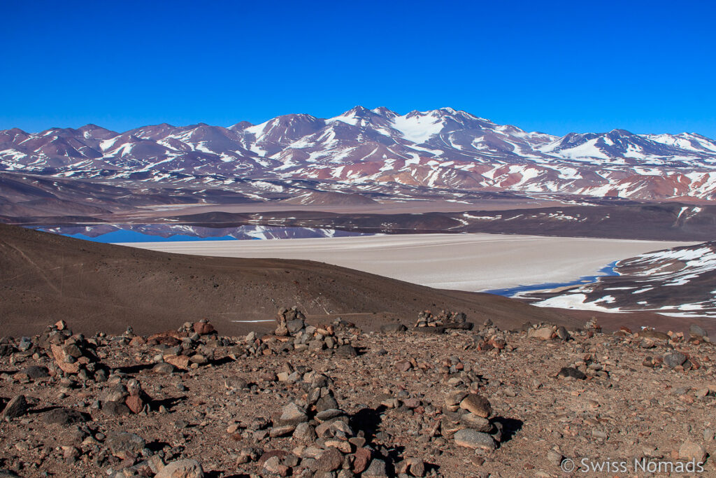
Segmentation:
<svg viewBox="0 0 716 478">
<path fill-rule="evenodd" d="M 559 312 L 493 295 L 435 290 L 320 262 L 165 254 L 84 242 L 0 224 L 0 317 L 4 335 L 32 335 L 49 322 L 77 331 L 137 333 L 177 328 L 206 317 L 227 333 L 272 322 L 276 309 L 309 315 L 358 314 L 376 328 L 417 312 L 461 310 L 503 327 L 528 320 L 581 323 Z"/>
</svg>

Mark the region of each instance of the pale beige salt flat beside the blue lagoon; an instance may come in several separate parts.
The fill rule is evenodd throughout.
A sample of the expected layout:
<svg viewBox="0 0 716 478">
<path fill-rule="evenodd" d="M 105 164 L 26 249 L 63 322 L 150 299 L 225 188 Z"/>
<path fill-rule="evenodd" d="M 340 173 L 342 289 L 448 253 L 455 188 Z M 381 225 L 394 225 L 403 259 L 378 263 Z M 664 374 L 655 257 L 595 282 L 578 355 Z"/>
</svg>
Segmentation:
<svg viewBox="0 0 716 478">
<path fill-rule="evenodd" d="M 479 291 L 571 282 L 618 259 L 692 243 L 502 234 L 125 244 L 220 257 L 307 259 L 441 289 Z"/>
</svg>

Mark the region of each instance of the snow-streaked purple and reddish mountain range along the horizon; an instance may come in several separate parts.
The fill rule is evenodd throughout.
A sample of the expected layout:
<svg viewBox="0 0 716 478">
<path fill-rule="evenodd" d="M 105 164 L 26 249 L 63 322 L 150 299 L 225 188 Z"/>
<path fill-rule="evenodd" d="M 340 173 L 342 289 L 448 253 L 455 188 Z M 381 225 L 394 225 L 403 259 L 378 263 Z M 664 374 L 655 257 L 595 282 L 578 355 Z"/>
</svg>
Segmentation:
<svg viewBox="0 0 716 478">
<path fill-rule="evenodd" d="M 231 188 L 241 179 L 399 183 L 630 199 L 716 199 L 716 141 L 694 133 L 528 133 L 465 111 L 354 107 L 228 128 L 0 131 L 0 172 Z M 267 183 L 270 187 L 270 183 Z"/>
</svg>

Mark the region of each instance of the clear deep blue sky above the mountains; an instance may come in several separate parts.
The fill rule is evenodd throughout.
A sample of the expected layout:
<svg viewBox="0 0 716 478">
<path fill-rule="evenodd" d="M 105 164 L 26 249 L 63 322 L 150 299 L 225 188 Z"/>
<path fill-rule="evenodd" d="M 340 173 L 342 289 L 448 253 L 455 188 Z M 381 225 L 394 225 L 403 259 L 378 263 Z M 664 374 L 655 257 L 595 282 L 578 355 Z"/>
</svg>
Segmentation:
<svg viewBox="0 0 716 478">
<path fill-rule="evenodd" d="M 716 138 L 712 1 L 9 1 L 0 129 L 450 106 Z"/>
</svg>

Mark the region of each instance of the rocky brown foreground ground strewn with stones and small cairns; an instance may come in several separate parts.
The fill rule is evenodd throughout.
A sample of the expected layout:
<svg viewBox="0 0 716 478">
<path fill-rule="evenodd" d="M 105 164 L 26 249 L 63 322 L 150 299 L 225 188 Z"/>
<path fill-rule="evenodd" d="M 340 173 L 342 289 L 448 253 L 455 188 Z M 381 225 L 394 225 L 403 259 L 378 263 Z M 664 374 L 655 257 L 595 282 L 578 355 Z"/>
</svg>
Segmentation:
<svg viewBox="0 0 716 478">
<path fill-rule="evenodd" d="M 296 307 L 268 335 L 69 326 L 0 340 L 1 477 L 624 476 L 583 460 L 634 459 L 716 476 L 716 349 L 698 326 L 422 312 L 364 332 Z"/>
</svg>

